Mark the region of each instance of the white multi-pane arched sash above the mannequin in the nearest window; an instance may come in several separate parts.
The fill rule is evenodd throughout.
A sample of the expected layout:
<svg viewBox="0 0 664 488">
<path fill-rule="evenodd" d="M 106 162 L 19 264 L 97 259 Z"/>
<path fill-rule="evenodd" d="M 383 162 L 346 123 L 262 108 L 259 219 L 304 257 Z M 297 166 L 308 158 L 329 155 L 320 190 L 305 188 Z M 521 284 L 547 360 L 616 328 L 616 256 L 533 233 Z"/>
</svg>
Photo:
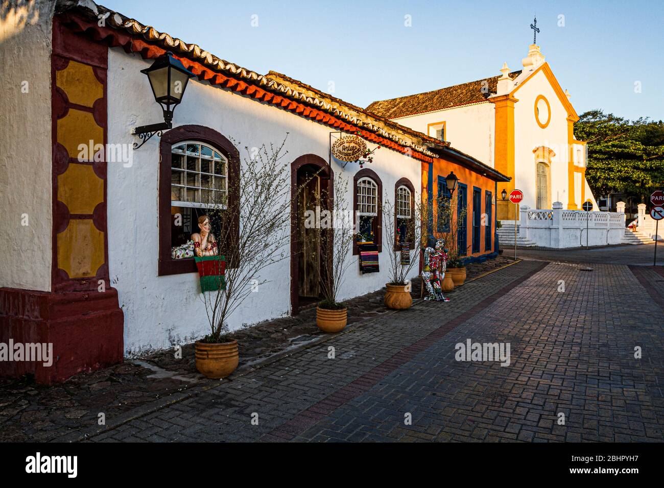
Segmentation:
<svg viewBox="0 0 664 488">
<path fill-rule="evenodd" d="M 186 150 L 187 145 L 190 144 L 195 144 L 199 146 L 199 153 L 194 154 L 194 153 L 188 153 Z M 176 151 L 175 149 L 185 146 L 184 151 Z M 208 157 L 202 154 L 202 149 L 201 146 L 205 146 L 210 151 L 212 151 L 212 157 Z M 228 196 L 228 158 L 225 157 L 220 151 L 212 147 L 211 145 L 204 143 L 202 141 L 195 141 L 195 140 L 190 140 L 190 141 L 179 141 L 177 143 L 174 143 L 171 146 L 171 154 L 172 155 L 184 155 L 185 156 L 185 163 L 184 167 L 178 168 L 178 167 L 173 167 L 173 157 L 171 157 L 171 189 L 173 187 L 175 188 L 181 188 L 183 191 L 183 197 L 185 197 L 185 201 L 179 201 L 179 200 L 171 200 L 171 206 L 180 206 L 180 207 L 192 207 L 192 208 L 208 208 L 210 206 L 210 203 L 203 202 L 202 200 L 202 191 L 207 190 L 207 191 L 212 191 L 212 195 L 214 196 L 215 193 L 221 193 L 222 195 L 225 195 L 226 197 Z M 196 169 L 193 171 L 187 170 L 187 159 L 186 157 L 197 157 L 197 163 L 196 163 Z M 214 173 L 214 167 L 212 167 L 212 173 L 208 171 L 202 171 L 203 168 L 201 165 L 203 164 L 203 161 L 206 161 L 208 163 L 214 163 L 221 161 L 223 163 L 224 167 L 224 174 L 216 174 Z M 180 173 L 180 184 L 173 183 L 173 174 L 174 173 Z M 187 185 L 187 173 L 195 173 L 196 174 L 196 186 L 189 186 Z M 212 187 L 203 187 L 201 186 L 201 175 L 208 175 L 212 179 Z M 216 189 L 214 188 L 214 182 L 216 179 L 222 179 L 223 185 L 222 188 Z M 187 190 L 194 189 L 196 191 L 196 198 L 197 201 L 187 201 Z M 214 199 L 213 199 L 214 200 Z M 220 205 L 221 208 L 226 208 L 226 205 Z"/>
</svg>

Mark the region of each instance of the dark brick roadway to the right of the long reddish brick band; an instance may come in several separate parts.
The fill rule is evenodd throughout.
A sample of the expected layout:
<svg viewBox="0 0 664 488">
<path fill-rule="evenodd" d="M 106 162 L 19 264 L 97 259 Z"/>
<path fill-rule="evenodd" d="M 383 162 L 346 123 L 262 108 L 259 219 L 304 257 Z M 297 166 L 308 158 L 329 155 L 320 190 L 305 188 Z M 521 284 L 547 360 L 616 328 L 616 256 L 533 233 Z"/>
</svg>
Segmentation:
<svg viewBox="0 0 664 488">
<path fill-rule="evenodd" d="M 550 264 L 295 440 L 661 442 L 664 314 L 643 294 L 626 266 Z M 511 343 L 511 366 L 458 363 L 466 339 Z"/>
</svg>

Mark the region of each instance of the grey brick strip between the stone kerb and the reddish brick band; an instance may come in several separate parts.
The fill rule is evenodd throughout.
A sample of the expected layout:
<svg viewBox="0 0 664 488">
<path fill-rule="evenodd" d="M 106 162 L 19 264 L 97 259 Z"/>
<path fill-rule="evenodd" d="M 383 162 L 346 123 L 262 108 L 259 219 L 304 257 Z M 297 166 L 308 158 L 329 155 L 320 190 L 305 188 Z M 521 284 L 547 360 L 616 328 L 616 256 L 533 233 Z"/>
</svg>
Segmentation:
<svg viewBox="0 0 664 488">
<path fill-rule="evenodd" d="M 392 319 L 381 317 L 371 325 L 232 382 L 222 382 L 195 398 L 150 413 L 94 440 L 256 440 L 442 323 L 541 266 L 534 262 L 510 266 L 463 285 L 455 292 L 453 301 L 439 304 L 444 310 L 434 313 L 434 304 L 422 303 L 392 315 Z M 335 347 L 336 359 L 327 359 L 330 345 Z M 259 424 L 249 424 L 247 429 L 252 412 L 258 413 Z M 174 422 L 171 422 L 172 418 L 175 418 Z M 169 423 L 171 429 L 166 428 Z"/>
</svg>

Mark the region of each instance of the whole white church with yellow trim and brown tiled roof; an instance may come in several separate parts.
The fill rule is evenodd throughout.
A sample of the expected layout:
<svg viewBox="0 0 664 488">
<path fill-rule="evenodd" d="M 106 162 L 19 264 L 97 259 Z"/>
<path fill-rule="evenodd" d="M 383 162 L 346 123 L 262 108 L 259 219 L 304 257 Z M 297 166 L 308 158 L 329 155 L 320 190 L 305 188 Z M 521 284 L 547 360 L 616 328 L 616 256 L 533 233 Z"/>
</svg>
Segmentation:
<svg viewBox="0 0 664 488">
<path fill-rule="evenodd" d="M 515 206 L 500 197 L 523 191 L 523 206 L 580 210 L 598 206 L 585 178 L 586 143 L 574 139 L 578 114 L 558 84 L 540 47 L 531 44 L 523 68 L 503 64 L 493 76 L 410 96 L 373 102 L 367 110 L 459 149 L 511 177 L 497 191 L 499 220 Z M 517 217 L 518 218 L 518 217 Z"/>
</svg>

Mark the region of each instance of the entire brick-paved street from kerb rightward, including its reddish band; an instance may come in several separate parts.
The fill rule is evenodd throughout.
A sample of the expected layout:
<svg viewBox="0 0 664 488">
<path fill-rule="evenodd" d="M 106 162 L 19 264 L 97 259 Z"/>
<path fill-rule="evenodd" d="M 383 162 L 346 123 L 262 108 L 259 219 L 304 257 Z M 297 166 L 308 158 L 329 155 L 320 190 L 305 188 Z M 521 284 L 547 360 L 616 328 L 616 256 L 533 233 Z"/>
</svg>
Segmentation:
<svg viewBox="0 0 664 488">
<path fill-rule="evenodd" d="M 657 277 L 523 261 L 90 440 L 663 441 Z M 511 364 L 457 362 L 466 339 Z"/>
</svg>

